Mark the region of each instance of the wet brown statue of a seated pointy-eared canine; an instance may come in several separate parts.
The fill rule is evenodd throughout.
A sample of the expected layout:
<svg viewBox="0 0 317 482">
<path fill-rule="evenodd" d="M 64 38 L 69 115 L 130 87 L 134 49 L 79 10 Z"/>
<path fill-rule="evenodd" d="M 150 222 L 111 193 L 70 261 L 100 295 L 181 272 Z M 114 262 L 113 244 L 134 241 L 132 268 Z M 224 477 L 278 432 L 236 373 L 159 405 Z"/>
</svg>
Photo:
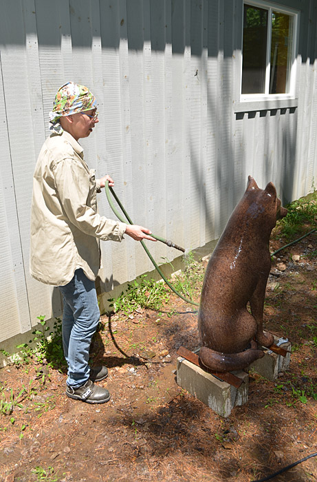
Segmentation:
<svg viewBox="0 0 317 482">
<path fill-rule="evenodd" d="M 271 268 L 269 240 L 276 220 L 286 214 L 272 182 L 259 189 L 249 176 L 244 196 L 208 262 L 201 291 L 199 359 L 211 370 L 245 368 L 264 356 L 258 344 L 273 343 L 273 335 L 263 333 L 265 287 Z"/>
</svg>

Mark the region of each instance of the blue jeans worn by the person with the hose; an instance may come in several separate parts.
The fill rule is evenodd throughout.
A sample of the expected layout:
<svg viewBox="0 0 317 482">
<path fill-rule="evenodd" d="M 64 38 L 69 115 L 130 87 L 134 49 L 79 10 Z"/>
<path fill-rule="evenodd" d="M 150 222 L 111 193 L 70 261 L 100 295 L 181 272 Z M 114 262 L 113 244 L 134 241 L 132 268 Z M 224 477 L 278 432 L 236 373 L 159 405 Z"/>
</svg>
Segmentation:
<svg viewBox="0 0 317 482">
<path fill-rule="evenodd" d="M 78 388 L 89 379 L 89 347 L 100 319 L 94 281 L 83 269 L 72 280 L 58 286 L 63 295 L 63 348 L 68 366 L 67 385 Z"/>
</svg>

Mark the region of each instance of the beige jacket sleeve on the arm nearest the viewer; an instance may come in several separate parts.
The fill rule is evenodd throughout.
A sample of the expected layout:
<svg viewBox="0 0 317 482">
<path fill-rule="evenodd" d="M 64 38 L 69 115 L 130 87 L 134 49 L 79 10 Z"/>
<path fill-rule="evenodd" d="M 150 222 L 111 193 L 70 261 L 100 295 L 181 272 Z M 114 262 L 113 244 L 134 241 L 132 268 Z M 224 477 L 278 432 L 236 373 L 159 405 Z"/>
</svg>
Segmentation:
<svg viewBox="0 0 317 482">
<path fill-rule="evenodd" d="M 127 224 L 98 214 L 96 181 L 78 160 L 58 161 L 54 167 L 54 182 L 65 215 L 80 231 L 104 241 L 122 240 Z"/>
</svg>

